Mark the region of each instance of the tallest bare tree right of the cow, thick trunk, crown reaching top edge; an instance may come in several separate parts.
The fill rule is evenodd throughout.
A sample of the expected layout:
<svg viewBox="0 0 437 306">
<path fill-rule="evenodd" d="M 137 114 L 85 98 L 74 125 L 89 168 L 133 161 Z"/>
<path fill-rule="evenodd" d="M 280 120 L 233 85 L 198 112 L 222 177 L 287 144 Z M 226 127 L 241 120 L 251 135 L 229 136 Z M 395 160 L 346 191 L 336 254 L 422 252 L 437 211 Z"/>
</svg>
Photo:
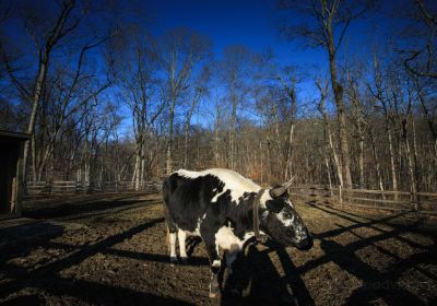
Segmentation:
<svg viewBox="0 0 437 306">
<path fill-rule="evenodd" d="M 292 9 L 310 21 L 297 26 L 286 24 L 282 31 L 288 38 L 303 39 L 309 47 L 322 47 L 327 51 L 331 75 L 331 89 L 334 95 L 340 141 L 340 157 L 345 177 L 345 187 L 352 187 L 350 145 L 343 87 L 339 82 L 336 56 L 350 24 L 362 17 L 374 1 L 282 1 L 282 8 Z"/>
</svg>

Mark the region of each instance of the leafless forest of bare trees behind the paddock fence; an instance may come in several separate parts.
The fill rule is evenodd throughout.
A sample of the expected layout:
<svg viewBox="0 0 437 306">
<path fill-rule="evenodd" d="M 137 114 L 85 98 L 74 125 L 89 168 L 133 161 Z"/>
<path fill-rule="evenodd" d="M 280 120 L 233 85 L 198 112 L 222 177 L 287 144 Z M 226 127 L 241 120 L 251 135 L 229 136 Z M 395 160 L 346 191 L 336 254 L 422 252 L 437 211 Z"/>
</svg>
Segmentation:
<svg viewBox="0 0 437 306">
<path fill-rule="evenodd" d="M 32 136 L 26 180 L 139 188 L 225 167 L 263 185 L 437 191 L 437 3 L 274 5 L 287 61 L 155 27 L 147 1 L 2 1 L 0 129 Z"/>
</svg>

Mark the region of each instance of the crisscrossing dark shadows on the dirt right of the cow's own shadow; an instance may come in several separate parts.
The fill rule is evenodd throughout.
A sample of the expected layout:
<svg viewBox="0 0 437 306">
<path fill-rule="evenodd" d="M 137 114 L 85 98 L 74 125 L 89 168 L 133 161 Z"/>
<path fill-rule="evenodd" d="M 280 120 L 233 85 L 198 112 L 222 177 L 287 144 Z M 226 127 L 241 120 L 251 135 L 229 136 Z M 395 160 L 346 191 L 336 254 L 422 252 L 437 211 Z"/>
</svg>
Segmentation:
<svg viewBox="0 0 437 306">
<path fill-rule="evenodd" d="M 308 271 L 324 262 L 332 261 L 342 270 L 355 275 L 363 282 L 363 285 L 352 292 L 351 296 L 349 296 L 346 299 L 346 305 L 369 305 L 378 299 L 382 299 L 388 305 L 425 305 L 425 303 L 430 303 L 430 301 L 424 302 L 423 296 L 417 296 L 416 294 L 399 285 L 400 278 L 410 269 L 420 271 L 432 281 L 436 281 L 437 279 L 437 276 L 432 272 L 421 268 L 421 264 L 435 264 L 435 258 L 437 258 L 435 236 L 428 236 L 432 235 L 429 233 L 426 234 L 426 236 L 433 237 L 434 243 L 430 246 L 424 246 L 417 242 L 413 242 L 401 236 L 405 233 L 424 234 L 424 232 L 420 229 L 421 225 L 423 224 L 422 219 L 404 225 L 395 224 L 393 221 L 400 216 L 403 216 L 408 212 L 374 220 L 362 217 L 338 209 L 326 209 L 317 205 L 312 207 L 328 214 L 353 222 L 353 224 L 349 226 L 336 224 L 339 228 L 315 235 L 315 237 L 320 240 L 320 247 L 324 251 L 324 256 L 317 260 L 307 262 L 303 267 L 299 267 L 298 270 L 300 272 Z M 365 221 L 359 221 L 358 217 L 364 219 Z M 376 226 L 377 224 L 389 225 L 391 229 L 380 228 L 379 226 Z M 353 232 L 354 229 L 361 227 L 371 228 L 376 231 L 377 234 L 369 237 L 362 237 Z M 331 237 L 343 233 L 350 233 L 358 239 L 347 245 L 341 245 L 330 239 Z M 398 239 L 400 243 L 408 245 L 409 247 L 421 249 L 421 252 L 416 252 L 404 259 L 400 258 L 389 249 L 376 244 L 387 239 Z M 385 256 L 391 257 L 394 263 L 388 267 L 386 270 L 379 271 L 369 263 L 364 262 L 357 256 L 356 251 L 367 246 L 373 246 Z M 336 290 L 341 289 L 338 287 Z"/>
</svg>

